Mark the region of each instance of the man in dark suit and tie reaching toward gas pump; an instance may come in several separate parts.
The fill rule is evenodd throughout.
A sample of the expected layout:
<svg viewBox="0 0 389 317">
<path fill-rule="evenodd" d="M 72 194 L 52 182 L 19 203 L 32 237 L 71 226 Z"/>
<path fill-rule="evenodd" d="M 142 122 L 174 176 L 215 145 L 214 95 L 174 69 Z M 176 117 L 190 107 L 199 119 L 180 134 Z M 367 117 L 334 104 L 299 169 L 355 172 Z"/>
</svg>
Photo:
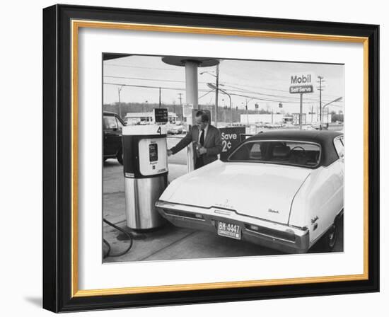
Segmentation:
<svg viewBox="0 0 389 317">
<path fill-rule="evenodd" d="M 207 113 L 197 111 L 196 124 L 187 132 L 187 135 L 168 150 L 168 156 L 176 154 L 191 142 L 196 144 L 197 155 L 194 157 L 194 169 L 212 163 L 221 153 L 221 135 L 219 129 L 209 123 Z"/>
</svg>

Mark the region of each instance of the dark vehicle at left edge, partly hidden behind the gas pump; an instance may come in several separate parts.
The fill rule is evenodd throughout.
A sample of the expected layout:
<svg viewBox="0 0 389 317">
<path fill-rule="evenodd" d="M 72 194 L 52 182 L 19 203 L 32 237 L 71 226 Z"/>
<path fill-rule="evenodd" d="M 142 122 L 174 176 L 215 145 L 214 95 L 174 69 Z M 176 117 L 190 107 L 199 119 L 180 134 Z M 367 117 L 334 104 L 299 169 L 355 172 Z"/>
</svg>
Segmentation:
<svg viewBox="0 0 389 317">
<path fill-rule="evenodd" d="M 123 164 L 122 127 L 123 120 L 116 113 L 103 113 L 103 160 L 117 159 Z"/>
</svg>

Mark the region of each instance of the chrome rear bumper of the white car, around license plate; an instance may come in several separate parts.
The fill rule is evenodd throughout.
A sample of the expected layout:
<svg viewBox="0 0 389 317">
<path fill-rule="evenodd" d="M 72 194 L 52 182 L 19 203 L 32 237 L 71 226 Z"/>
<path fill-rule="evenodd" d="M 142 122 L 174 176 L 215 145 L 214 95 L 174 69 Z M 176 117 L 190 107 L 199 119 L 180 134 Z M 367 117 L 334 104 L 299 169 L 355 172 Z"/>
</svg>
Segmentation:
<svg viewBox="0 0 389 317">
<path fill-rule="evenodd" d="M 161 216 L 175 226 L 211 231 L 217 234 L 218 221 L 237 224 L 241 240 L 256 243 L 286 253 L 306 253 L 309 231 L 273 221 L 248 217 L 230 209 L 202 208 L 158 200 L 156 208 Z"/>
</svg>

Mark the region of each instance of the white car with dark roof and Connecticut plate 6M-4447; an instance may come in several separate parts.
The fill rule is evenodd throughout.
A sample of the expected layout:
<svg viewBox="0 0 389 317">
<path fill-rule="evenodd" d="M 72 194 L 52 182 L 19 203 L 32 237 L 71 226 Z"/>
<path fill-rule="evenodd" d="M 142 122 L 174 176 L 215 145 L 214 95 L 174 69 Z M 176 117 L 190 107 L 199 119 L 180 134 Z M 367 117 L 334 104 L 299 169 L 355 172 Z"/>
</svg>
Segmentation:
<svg viewBox="0 0 389 317">
<path fill-rule="evenodd" d="M 156 207 L 175 226 L 306 253 L 335 246 L 343 190 L 343 134 L 284 130 L 173 180 Z"/>
</svg>

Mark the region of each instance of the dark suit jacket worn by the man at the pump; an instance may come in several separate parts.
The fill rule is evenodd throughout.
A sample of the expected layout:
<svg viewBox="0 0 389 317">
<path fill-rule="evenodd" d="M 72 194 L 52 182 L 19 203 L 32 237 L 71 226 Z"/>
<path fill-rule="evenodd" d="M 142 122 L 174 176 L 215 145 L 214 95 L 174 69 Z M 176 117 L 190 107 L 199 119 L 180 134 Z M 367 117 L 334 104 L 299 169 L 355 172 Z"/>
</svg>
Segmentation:
<svg viewBox="0 0 389 317">
<path fill-rule="evenodd" d="M 187 132 L 187 135 L 176 146 L 171 148 L 173 154 L 181 151 L 191 142 L 199 142 L 199 132 L 197 125 L 192 126 L 190 131 Z M 208 125 L 207 134 L 204 139 L 204 148 L 207 149 L 207 153 L 202 156 L 204 165 L 216 161 L 217 155 L 221 153 L 221 135 L 219 129 L 213 125 Z M 194 164 L 196 163 L 196 159 L 197 157 L 194 156 Z"/>
</svg>

